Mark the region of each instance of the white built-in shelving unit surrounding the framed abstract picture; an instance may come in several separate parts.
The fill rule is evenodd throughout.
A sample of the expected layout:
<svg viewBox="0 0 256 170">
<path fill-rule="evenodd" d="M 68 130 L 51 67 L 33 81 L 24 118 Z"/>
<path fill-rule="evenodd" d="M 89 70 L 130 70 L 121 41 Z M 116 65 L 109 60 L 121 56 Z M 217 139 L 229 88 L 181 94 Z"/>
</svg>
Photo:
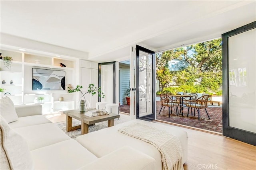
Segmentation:
<svg viewBox="0 0 256 170">
<path fill-rule="evenodd" d="M 78 59 L 72 57 L 60 59 L 51 56 L 37 55 L 34 53 L 21 53 L 15 51 L 1 50 L 2 57 L 12 57 L 11 68 L 4 67 L 4 62 L 0 60 L 0 88 L 5 89 L 1 93 L 1 98 L 9 96 L 15 105 L 36 104 L 38 97 L 44 97 L 41 104 L 43 114 L 56 113 L 58 111 L 75 109 L 76 94 L 68 94 L 67 90 L 32 90 L 32 68 L 64 70 L 65 84 L 75 84 L 76 62 Z M 60 66 L 60 63 L 64 66 Z M 2 84 L 2 81 L 6 84 Z M 10 81 L 13 84 L 10 84 Z M 10 93 L 10 94 L 8 94 Z M 59 100 L 60 98 L 63 100 Z"/>
</svg>

